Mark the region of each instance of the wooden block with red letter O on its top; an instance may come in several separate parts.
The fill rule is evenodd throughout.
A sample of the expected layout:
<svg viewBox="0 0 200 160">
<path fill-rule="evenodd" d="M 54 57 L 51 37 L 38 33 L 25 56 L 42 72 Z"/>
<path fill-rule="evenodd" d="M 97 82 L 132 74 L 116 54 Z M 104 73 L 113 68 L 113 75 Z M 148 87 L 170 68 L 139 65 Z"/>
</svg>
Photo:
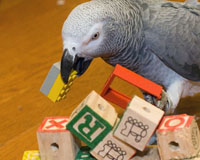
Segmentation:
<svg viewBox="0 0 200 160">
<path fill-rule="evenodd" d="M 193 116 L 165 116 L 157 130 L 163 160 L 195 157 L 200 150 L 199 128 Z"/>
</svg>

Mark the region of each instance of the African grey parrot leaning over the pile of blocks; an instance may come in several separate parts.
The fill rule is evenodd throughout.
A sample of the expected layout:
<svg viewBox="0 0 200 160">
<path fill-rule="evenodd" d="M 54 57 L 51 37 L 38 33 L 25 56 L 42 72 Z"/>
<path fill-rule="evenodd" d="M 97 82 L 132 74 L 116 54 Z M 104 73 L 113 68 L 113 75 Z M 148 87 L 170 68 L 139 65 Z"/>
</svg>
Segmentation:
<svg viewBox="0 0 200 160">
<path fill-rule="evenodd" d="M 64 22 L 61 75 L 95 57 L 164 86 L 169 110 L 200 92 L 200 7 L 162 0 L 92 0 Z"/>
</svg>

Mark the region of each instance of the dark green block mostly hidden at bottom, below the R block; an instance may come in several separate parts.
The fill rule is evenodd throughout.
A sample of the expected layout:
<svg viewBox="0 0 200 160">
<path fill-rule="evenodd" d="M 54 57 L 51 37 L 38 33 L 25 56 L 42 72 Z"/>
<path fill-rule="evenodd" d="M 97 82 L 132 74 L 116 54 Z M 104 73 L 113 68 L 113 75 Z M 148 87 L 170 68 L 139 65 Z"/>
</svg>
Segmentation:
<svg viewBox="0 0 200 160">
<path fill-rule="evenodd" d="M 96 160 L 96 158 L 90 154 L 90 148 L 85 146 L 80 148 L 75 160 Z"/>
</svg>

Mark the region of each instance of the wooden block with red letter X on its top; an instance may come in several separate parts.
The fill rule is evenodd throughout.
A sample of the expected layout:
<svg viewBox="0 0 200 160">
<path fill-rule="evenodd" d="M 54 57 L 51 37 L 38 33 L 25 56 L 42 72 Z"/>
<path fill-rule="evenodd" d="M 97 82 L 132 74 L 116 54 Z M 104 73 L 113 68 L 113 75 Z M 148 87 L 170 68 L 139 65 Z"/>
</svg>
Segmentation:
<svg viewBox="0 0 200 160">
<path fill-rule="evenodd" d="M 47 117 L 37 131 L 41 160 L 75 159 L 78 146 L 66 130 L 68 117 Z"/>
</svg>

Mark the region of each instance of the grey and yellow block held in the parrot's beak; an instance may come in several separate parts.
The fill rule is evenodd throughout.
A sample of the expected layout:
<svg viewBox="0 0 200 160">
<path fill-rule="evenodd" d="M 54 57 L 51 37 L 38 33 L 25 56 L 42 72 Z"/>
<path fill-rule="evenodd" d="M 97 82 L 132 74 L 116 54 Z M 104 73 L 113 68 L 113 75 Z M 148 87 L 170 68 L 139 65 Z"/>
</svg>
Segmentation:
<svg viewBox="0 0 200 160">
<path fill-rule="evenodd" d="M 60 74 L 60 62 L 54 63 L 51 67 L 43 85 L 40 89 L 53 102 L 61 101 L 66 97 L 70 86 L 76 78 L 77 72 L 73 70 L 67 84 L 64 84 Z"/>
</svg>

